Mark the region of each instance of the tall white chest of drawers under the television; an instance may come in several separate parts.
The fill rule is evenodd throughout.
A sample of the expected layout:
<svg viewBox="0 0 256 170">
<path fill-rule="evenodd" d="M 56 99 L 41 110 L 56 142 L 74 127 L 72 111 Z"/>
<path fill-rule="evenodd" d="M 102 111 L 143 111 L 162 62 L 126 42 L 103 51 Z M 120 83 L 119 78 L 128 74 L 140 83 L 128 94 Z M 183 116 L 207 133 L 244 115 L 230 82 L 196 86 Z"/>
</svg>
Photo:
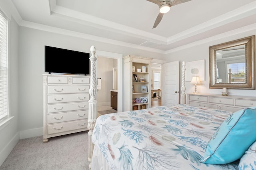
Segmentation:
<svg viewBox="0 0 256 170">
<path fill-rule="evenodd" d="M 43 74 L 44 139 L 86 131 L 90 76 Z"/>
</svg>

